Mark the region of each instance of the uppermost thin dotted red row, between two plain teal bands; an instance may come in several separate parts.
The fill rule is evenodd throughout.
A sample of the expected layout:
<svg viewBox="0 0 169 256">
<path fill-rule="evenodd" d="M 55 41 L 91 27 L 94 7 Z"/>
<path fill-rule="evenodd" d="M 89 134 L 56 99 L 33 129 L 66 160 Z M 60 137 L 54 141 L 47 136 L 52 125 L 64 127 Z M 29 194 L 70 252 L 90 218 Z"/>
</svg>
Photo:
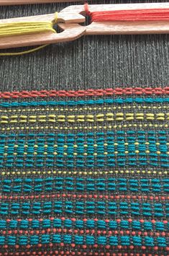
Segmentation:
<svg viewBox="0 0 169 256">
<path fill-rule="evenodd" d="M 169 200 L 169 196 L 163 195 L 75 195 L 75 194 L 51 194 L 51 195 L 1 195 L 0 200 L 28 200 L 39 198 L 94 198 L 94 199 L 148 199 L 148 200 Z"/>
</svg>

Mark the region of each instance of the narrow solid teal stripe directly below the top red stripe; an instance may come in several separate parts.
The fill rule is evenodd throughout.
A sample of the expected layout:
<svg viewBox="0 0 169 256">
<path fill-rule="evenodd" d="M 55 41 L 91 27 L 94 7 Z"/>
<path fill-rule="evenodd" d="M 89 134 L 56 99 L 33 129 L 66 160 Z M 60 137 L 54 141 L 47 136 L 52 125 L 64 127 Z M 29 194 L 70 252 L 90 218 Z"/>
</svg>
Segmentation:
<svg viewBox="0 0 169 256">
<path fill-rule="evenodd" d="M 30 101 L 30 102 L 0 102 L 0 107 L 38 107 L 38 106 L 81 106 L 81 105 L 103 105 L 103 104 L 131 104 L 131 103 L 168 103 L 169 98 L 152 97 L 127 97 L 126 99 L 118 97 L 117 99 L 100 100 L 68 100 L 68 101 Z"/>
</svg>

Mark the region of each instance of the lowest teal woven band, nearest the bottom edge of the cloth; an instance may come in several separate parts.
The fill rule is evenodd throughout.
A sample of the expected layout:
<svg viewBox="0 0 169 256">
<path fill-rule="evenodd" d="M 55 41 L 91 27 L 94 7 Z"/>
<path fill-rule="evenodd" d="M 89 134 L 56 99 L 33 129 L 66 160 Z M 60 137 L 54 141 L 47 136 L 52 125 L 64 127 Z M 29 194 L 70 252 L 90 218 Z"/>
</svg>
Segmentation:
<svg viewBox="0 0 169 256">
<path fill-rule="evenodd" d="M 85 236 L 80 235 L 71 235 L 71 234 L 40 234 L 32 235 L 32 236 L 0 236 L 0 245 L 8 244 L 8 245 L 35 245 L 35 244 L 60 244 L 61 242 L 65 244 L 99 244 L 99 245 L 106 245 L 109 244 L 111 246 L 116 245 L 134 245 L 134 246 L 147 246 L 147 247 L 166 247 L 167 242 L 165 237 L 140 237 L 140 236 L 93 236 L 86 234 Z"/>
</svg>

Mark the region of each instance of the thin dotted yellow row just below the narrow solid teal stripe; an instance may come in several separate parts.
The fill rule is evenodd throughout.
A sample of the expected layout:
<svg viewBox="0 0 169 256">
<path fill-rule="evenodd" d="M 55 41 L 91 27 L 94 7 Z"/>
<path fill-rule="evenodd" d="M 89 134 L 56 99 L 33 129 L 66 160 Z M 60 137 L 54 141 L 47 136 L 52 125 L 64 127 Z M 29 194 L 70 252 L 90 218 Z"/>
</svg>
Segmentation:
<svg viewBox="0 0 169 256">
<path fill-rule="evenodd" d="M 76 111 L 93 111 L 93 110 L 163 110 L 168 109 L 168 105 L 161 105 L 161 106 L 147 106 L 147 105 L 122 105 L 122 106 L 111 106 L 111 107 L 37 107 L 37 108 L 16 108 L 16 109 L 8 109 L 4 110 L 3 108 L 0 109 L 0 112 L 38 112 L 38 111 L 45 111 L 45 112 L 52 112 L 52 111 L 65 111 L 65 112 L 76 112 Z"/>
</svg>

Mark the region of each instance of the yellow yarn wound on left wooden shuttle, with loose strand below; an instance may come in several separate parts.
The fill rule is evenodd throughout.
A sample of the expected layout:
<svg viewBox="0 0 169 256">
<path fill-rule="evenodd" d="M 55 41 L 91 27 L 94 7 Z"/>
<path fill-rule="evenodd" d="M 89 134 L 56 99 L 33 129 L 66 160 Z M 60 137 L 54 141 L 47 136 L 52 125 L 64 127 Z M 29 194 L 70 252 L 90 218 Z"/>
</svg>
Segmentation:
<svg viewBox="0 0 169 256">
<path fill-rule="evenodd" d="M 55 12 L 55 19 L 53 22 L 14 22 L 0 24 L 0 37 L 9 37 L 16 35 L 29 35 L 40 32 L 54 32 L 53 25 L 57 22 L 58 12 Z M 48 45 L 48 44 L 47 44 Z M 40 45 L 30 50 L 24 50 L 17 53 L 0 53 L 0 56 L 19 56 L 27 53 L 33 53 L 37 50 L 45 48 L 47 45 Z"/>
</svg>

